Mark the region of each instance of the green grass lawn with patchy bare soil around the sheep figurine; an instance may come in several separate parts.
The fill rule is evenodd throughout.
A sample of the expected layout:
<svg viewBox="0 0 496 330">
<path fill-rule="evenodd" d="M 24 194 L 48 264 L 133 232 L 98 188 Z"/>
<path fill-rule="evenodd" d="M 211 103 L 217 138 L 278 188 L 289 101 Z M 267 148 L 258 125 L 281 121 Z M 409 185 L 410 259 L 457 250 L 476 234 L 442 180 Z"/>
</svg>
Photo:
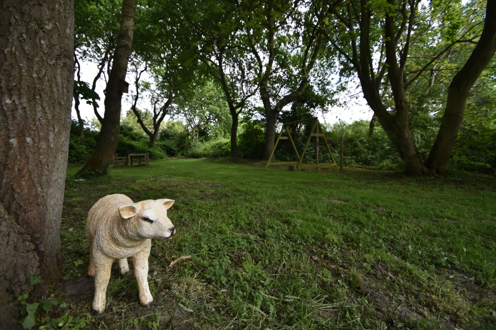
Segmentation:
<svg viewBox="0 0 496 330">
<path fill-rule="evenodd" d="M 410 178 L 336 168 L 265 169 L 200 160 L 68 168 L 62 283 L 40 312 L 65 329 L 454 329 L 495 327 L 496 180 Z M 91 316 L 85 219 L 101 197 L 170 198 L 179 235 L 153 240 L 154 306 L 114 264 Z M 168 268 L 169 263 L 185 255 Z M 132 269 L 132 264 L 130 265 Z M 65 306 L 65 305 L 64 305 Z M 47 327 L 48 328 L 48 327 Z"/>
</svg>

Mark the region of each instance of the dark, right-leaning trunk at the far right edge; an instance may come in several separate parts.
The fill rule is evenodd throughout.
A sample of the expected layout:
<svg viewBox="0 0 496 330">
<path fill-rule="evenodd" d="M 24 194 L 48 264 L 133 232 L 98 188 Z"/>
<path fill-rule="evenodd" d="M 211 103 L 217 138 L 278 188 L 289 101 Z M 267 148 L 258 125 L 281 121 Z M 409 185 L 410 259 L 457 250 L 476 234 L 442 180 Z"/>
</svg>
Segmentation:
<svg viewBox="0 0 496 330">
<path fill-rule="evenodd" d="M 496 51 L 496 1 L 488 0 L 481 39 L 448 88 L 446 109 L 434 145 L 426 162 L 437 173 L 447 170 L 456 137 L 463 121 L 467 98 L 475 81 L 489 64 Z"/>
</svg>

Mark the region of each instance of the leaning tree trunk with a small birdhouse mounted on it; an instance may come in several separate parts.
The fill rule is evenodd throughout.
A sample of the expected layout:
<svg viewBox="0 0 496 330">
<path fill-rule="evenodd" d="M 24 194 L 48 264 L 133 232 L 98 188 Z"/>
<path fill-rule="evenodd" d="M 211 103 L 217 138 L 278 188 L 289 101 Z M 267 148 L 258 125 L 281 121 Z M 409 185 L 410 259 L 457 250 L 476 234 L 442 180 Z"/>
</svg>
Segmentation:
<svg viewBox="0 0 496 330">
<path fill-rule="evenodd" d="M 119 92 L 119 83 L 125 80 L 127 63 L 131 54 L 132 37 L 134 33 L 134 19 L 136 15 L 136 0 L 123 0 L 121 28 L 119 39 L 114 53 L 109 82 L 105 89 L 105 114 L 102 120 L 102 129 L 98 136 L 98 143 L 88 162 L 77 172 L 105 171 L 119 143 L 119 129 L 121 123 L 122 93 Z"/>
</svg>

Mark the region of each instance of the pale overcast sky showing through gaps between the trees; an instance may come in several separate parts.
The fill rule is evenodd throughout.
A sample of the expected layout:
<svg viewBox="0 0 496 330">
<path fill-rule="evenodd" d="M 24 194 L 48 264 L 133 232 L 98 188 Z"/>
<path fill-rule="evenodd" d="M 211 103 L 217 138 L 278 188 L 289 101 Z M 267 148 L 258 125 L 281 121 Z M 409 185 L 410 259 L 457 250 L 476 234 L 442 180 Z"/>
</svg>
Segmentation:
<svg viewBox="0 0 496 330">
<path fill-rule="evenodd" d="M 98 69 L 95 63 L 85 62 L 80 60 L 81 63 L 81 80 L 89 83 L 90 85 L 93 83 L 93 79 L 96 76 Z M 150 81 L 150 76 L 144 72 L 141 75 L 142 81 Z M 123 114 L 125 115 L 125 111 L 129 110 L 131 107 L 131 94 L 134 94 L 134 75 L 132 73 L 128 73 L 126 77 L 126 81 L 130 83 L 129 85 L 129 94 L 123 95 L 123 103 L 122 109 Z M 340 95 L 340 99 L 344 100 L 346 107 L 334 107 L 331 108 L 326 113 L 319 113 L 318 117 L 320 121 L 327 122 L 333 124 L 340 119 L 351 123 L 355 120 L 367 119 L 370 120 L 372 118 L 372 110 L 367 106 L 365 99 L 363 98 L 362 89 L 357 83 L 350 84 L 349 89 Z M 104 112 L 104 94 L 103 89 L 105 87 L 105 81 L 100 79 L 96 85 L 96 92 L 100 96 L 101 100 L 98 101 L 100 108 L 98 108 L 99 113 L 103 116 Z M 359 95 L 358 98 L 353 98 L 353 95 Z M 140 98 L 138 101 L 138 107 L 141 109 L 152 109 L 151 105 L 147 102 L 146 98 Z M 79 111 L 81 112 L 81 117 L 85 120 L 91 120 L 92 117 L 95 117 L 93 112 L 93 107 L 87 105 L 84 100 L 81 100 L 79 105 Z M 72 103 L 72 117 L 77 118 L 76 111 L 74 110 L 74 103 Z M 165 117 L 165 120 L 168 120 L 169 116 Z"/>
</svg>

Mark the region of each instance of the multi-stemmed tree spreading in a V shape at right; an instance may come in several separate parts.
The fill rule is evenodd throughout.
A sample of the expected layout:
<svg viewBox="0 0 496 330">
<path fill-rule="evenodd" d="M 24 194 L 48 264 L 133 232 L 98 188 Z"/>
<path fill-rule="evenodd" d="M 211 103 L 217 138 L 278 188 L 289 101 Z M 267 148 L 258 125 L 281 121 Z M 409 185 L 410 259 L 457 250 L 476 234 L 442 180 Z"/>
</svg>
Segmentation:
<svg viewBox="0 0 496 330">
<path fill-rule="evenodd" d="M 435 48 L 436 53 L 427 63 L 419 70 L 409 70 L 412 63 L 410 49 L 415 43 L 425 42 L 424 33 L 434 28 L 433 24 L 428 24 L 428 30 L 422 30 L 426 25 L 421 23 L 425 23 L 426 17 L 419 15 L 419 3 L 418 0 L 327 3 L 327 10 L 333 19 L 323 21 L 320 30 L 338 50 L 343 65 L 358 75 L 367 103 L 397 146 L 407 171 L 410 174 L 441 173 L 447 168 L 470 89 L 494 56 L 496 10 L 494 1 L 488 1 L 482 35 L 472 55 L 451 82 L 441 128 L 424 164 L 410 127 L 408 90 L 423 72 L 429 69 L 434 71 L 438 60 L 451 47 L 457 43 L 475 43 L 478 30 L 473 25 L 478 24 L 473 23 L 474 17 L 467 15 L 470 16 L 466 17 L 467 26 L 464 26 L 463 33 L 457 33 L 458 38 L 446 44 L 445 38 L 442 38 L 444 36 L 440 36 L 442 45 Z M 427 19 L 439 20 L 446 13 L 451 14 L 452 10 L 432 11 L 437 16 Z M 435 43 L 435 38 L 430 42 Z M 386 95 L 392 98 L 393 104 L 383 98 L 384 89 L 387 89 Z"/>
</svg>

